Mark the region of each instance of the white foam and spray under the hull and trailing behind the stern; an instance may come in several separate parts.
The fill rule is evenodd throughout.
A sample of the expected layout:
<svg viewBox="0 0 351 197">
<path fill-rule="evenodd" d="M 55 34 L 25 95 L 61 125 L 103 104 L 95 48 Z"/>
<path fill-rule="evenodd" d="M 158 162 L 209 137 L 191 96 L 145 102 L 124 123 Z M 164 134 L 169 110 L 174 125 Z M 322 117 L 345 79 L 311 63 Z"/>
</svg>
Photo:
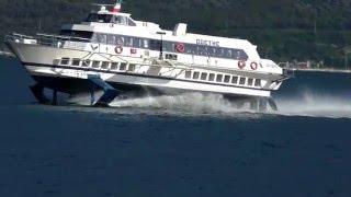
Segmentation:
<svg viewBox="0 0 351 197">
<path fill-rule="evenodd" d="M 256 117 L 256 115 L 309 116 L 326 118 L 351 118 L 351 100 L 342 95 L 314 93 L 308 90 L 296 93 L 296 96 L 279 96 L 274 101 L 278 112 L 257 112 L 249 107 L 238 108 L 233 102 L 218 94 L 186 93 L 181 95 L 146 96 L 118 100 L 110 104 L 105 113 L 147 113 L 185 116 L 235 116 Z M 90 95 L 80 95 L 70 102 L 80 105 L 90 104 Z M 133 108 L 133 109 L 132 109 Z M 118 111 L 118 112 L 117 112 Z M 133 112 L 128 112 L 133 111 Z"/>
</svg>

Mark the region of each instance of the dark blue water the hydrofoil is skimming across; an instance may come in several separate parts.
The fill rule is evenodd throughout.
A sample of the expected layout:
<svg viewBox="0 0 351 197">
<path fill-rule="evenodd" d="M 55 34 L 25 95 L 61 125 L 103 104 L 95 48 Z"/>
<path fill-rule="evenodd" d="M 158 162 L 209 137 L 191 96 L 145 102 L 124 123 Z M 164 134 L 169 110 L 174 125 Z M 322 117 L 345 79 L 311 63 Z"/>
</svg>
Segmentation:
<svg viewBox="0 0 351 197">
<path fill-rule="evenodd" d="M 44 106 L 0 59 L 0 196 L 351 196 L 351 76 L 302 73 L 280 111 L 191 94 Z"/>
</svg>

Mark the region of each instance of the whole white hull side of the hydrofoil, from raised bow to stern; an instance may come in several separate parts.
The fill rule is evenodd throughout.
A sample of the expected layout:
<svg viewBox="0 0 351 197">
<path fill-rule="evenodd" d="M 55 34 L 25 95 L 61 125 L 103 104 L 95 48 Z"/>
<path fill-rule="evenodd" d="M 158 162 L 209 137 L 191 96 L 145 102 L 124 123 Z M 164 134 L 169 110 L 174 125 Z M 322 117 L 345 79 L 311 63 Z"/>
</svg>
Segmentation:
<svg viewBox="0 0 351 197">
<path fill-rule="evenodd" d="M 127 70 L 120 71 L 92 67 L 86 68 L 67 65 L 63 66 L 58 62 L 58 59 L 61 57 L 77 58 L 87 57 L 90 55 L 92 59 L 95 58 L 100 59 L 101 61 L 103 61 L 104 58 L 99 57 L 101 55 L 91 55 L 90 51 L 77 49 L 55 48 L 19 43 L 10 43 L 10 47 L 20 58 L 27 71 L 35 77 L 45 76 L 52 78 L 72 78 L 84 80 L 88 79 L 89 74 L 99 74 L 107 83 L 148 86 L 162 90 L 162 92 L 166 94 L 172 93 L 173 90 L 183 90 L 188 92 L 208 92 L 229 95 L 233 94 L 238 96 L 270 97 L 271 90 L 278 90 L 281 85 L 281 83 L 272 83 L 272 81 L 281 78 L 281 76 L 253 72 L 245 73 L 240 70 L 229 70 L 229 72 L 237 76 L 246 74 L 249 78 L 260 78 L 262 79 L 262 86 L 247 86 L 216 81 L 210 82 L 208 80 L 206 81 L 200 79 L 189 80 L 184 79 L 184 68 L 155 69 L 155 67 L 144 66 L 143 68 L 140 67 L 138 71 L 129 72 Z M 114 57 L 111 57 L 110 59 L 113 58 Z M 194 67 L 193 70 L 199 70 L 199 72 L 219 72 L 225 76 L 225 72 L 220 72 L 220 69 L 216 68 L 207 69 L 205 67 Z"/>
</svg>

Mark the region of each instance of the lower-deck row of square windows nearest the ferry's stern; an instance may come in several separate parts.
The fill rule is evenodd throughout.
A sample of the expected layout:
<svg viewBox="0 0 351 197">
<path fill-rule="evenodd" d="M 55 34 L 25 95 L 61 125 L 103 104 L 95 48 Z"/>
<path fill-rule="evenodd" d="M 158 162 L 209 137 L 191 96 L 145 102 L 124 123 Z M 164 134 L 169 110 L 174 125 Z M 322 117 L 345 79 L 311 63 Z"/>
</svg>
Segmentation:
<svg viewBox="0 0 351 197">
<path fill-rule="evenodd" d="M 216 74 L 216 73 L 207 73 L 207 72 L 197 72 L 197 71 L 185 71 L 185 79 L 201 80 L 201 81 L 210 81 L 217 83 L 227 83 L 227 84 L 239 84 L 239 85 L 248 85 L 248 86 L 261 86 L 260 79 L 252 78 L 244 78 L 237 76 L 228 76 L 228 74 Z"/>
</svg>

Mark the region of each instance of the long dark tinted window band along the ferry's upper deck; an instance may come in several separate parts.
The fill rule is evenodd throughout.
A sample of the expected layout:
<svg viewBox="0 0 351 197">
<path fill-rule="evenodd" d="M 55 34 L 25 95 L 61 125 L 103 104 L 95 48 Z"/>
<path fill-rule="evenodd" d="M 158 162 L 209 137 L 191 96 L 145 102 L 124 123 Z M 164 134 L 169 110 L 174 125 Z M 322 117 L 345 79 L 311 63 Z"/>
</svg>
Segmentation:
<svg viewBox="0 0 351 197">
<path fill-rule="evenodd" d="M 184 51 L 179 51 L 177 49 L 177 46 L 179 45 L 179 43 L 168 42 L 168 40 L 161 42 L 159 39 L 148 39 L 148 38 L 140 38 L 140 37 L 124 36 L 124 35 L 101 34 L 101 33 L 92 33 L 92 32 L 86 32 L 86 31 L 70 31 L 70 30 L 63 30 L 61 35 L 83 37 L 83 38 L 92 39 L 93 43 L 109 44 L 109 45 L 123 45 L 125 47 L 144 48 L 144 49 L 150 49 L 150 50 L 160 50 L 162 46 L 163 51 L 168 51 L 168 53 L 183 53 L 183 54 L 195 55 L 195 56 L 226 58 L 226 59 L 236 59 L 236 60 L 248 59 L 248 55 L 242 49 L 236 49 L 236 48 L 204 46 L 204 45 L 196 45 L 196 44 L 183 44 Z"/>
</svg>

